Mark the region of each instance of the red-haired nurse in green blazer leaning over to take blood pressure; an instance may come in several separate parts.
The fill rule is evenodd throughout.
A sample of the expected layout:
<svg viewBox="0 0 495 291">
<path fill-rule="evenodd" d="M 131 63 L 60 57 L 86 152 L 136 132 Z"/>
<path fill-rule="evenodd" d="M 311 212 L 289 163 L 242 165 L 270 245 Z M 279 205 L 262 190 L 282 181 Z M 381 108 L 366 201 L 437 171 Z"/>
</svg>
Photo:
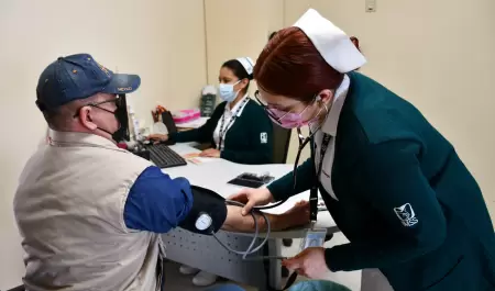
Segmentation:
<svg viewBox="0 0 495 291">
<path fill-rule="evenodd" d="M 254 68 L 256 97 L 283 126 L 309 126 L 311 158 L 232 199 L 249 211 L 318 184 L 350 243 L 283 262 L 306 277 L 376 269 L 378 290 L 495 290 L 494 228 L 475 179 L 414 105 L 353 71 L 364 63 L 315 10 L 277 33 Z"/>
</svg>

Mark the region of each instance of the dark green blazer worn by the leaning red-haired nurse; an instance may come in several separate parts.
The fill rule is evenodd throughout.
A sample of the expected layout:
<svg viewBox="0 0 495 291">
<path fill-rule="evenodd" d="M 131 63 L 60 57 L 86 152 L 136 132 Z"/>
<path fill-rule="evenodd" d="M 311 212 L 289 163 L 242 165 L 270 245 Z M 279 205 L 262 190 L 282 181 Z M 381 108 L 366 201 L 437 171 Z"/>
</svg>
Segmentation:
<svg viewBox="0 0 495 291">
<path fill-rule="evenodd" d="M 395 291 L 495 290 L 495 235 L 482 192 L 453 146 L 409 102 L 349 74 L 331 181 L 320 187 L 350 244 L 326 249 L 332 271 L 380 268 Z M 297 169 L 296 192 L 315 165 Z M 286 199 L 292 174 L 268 186 Z"/>
</svg>

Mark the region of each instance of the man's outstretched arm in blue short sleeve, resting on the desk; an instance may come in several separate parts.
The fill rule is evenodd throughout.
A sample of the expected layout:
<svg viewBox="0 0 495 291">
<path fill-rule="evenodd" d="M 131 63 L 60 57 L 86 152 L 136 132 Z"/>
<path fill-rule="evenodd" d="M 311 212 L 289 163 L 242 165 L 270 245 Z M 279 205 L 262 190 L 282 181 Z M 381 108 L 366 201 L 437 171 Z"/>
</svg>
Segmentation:
<svg viewBox="0 0 495 291">
<path fill-rule="evenodd" d="M 207 210 L 210 203 L 218 209 L 218 211 L 213 211 L 212 215 L 215 220 L 220 220 L 218 227 L 221 226 L 222 230 L 231 232 L 254 232 L 253 217 L 251 215 L 243 216 L 241 208 L 227 206 L 224 203 L 209 202 L 206 199 L 194 201 L 190 184 L 186 179 L 170 179 L 157 167 L 145 169 L 131 188 L 124 206 L 124 223 L 130 230 L 167 233 L 185 223 L 194 225 L 197 213 L 191 213 L 191 209 L 199 208 L 200 211 L 205 208 Z M 271 228 L 280 231 L 308 223 L 308 203 L 299 202 L 286 213 L 266 215 Z M 260 214 L 255 214 L 255 216 L 260 230 L 266 230 L 263 216 Z"/>
</svg>

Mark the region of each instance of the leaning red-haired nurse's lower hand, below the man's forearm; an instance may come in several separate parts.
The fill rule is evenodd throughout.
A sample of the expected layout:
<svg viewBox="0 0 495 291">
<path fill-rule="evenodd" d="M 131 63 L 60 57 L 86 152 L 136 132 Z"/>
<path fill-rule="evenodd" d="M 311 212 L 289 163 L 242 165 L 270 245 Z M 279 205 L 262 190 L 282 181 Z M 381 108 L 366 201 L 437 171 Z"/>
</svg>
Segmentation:
<svg viewBox="0 0 495 291">
<path fill-rule="evenodd" d="M 283 260 L 282 266 L 306 278 L 317 280 L 324 279 L 330 272 L 322 247 L 308 247 L 294 258 Z"/>
</svg>

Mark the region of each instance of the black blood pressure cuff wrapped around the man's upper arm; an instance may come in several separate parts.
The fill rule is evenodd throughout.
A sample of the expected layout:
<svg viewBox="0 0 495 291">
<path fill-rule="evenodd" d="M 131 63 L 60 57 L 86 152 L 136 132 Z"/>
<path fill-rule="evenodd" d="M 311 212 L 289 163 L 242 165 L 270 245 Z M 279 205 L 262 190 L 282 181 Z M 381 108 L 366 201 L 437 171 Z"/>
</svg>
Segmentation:
<svg viewBox="0 0 495 291">
<path fill-rule="evenodd" d="M 198 186 L 191 186 L 193 208 L 186 219 L 179 226 L 197 234 L 211 235 L 217 233 L 227 220 L 226 199 L 217 192 Z M 211 217 L 211 226 L 205 231 L 196 227 L 196 221 L 201 214 L 208 214 Z"/>
</svg>

